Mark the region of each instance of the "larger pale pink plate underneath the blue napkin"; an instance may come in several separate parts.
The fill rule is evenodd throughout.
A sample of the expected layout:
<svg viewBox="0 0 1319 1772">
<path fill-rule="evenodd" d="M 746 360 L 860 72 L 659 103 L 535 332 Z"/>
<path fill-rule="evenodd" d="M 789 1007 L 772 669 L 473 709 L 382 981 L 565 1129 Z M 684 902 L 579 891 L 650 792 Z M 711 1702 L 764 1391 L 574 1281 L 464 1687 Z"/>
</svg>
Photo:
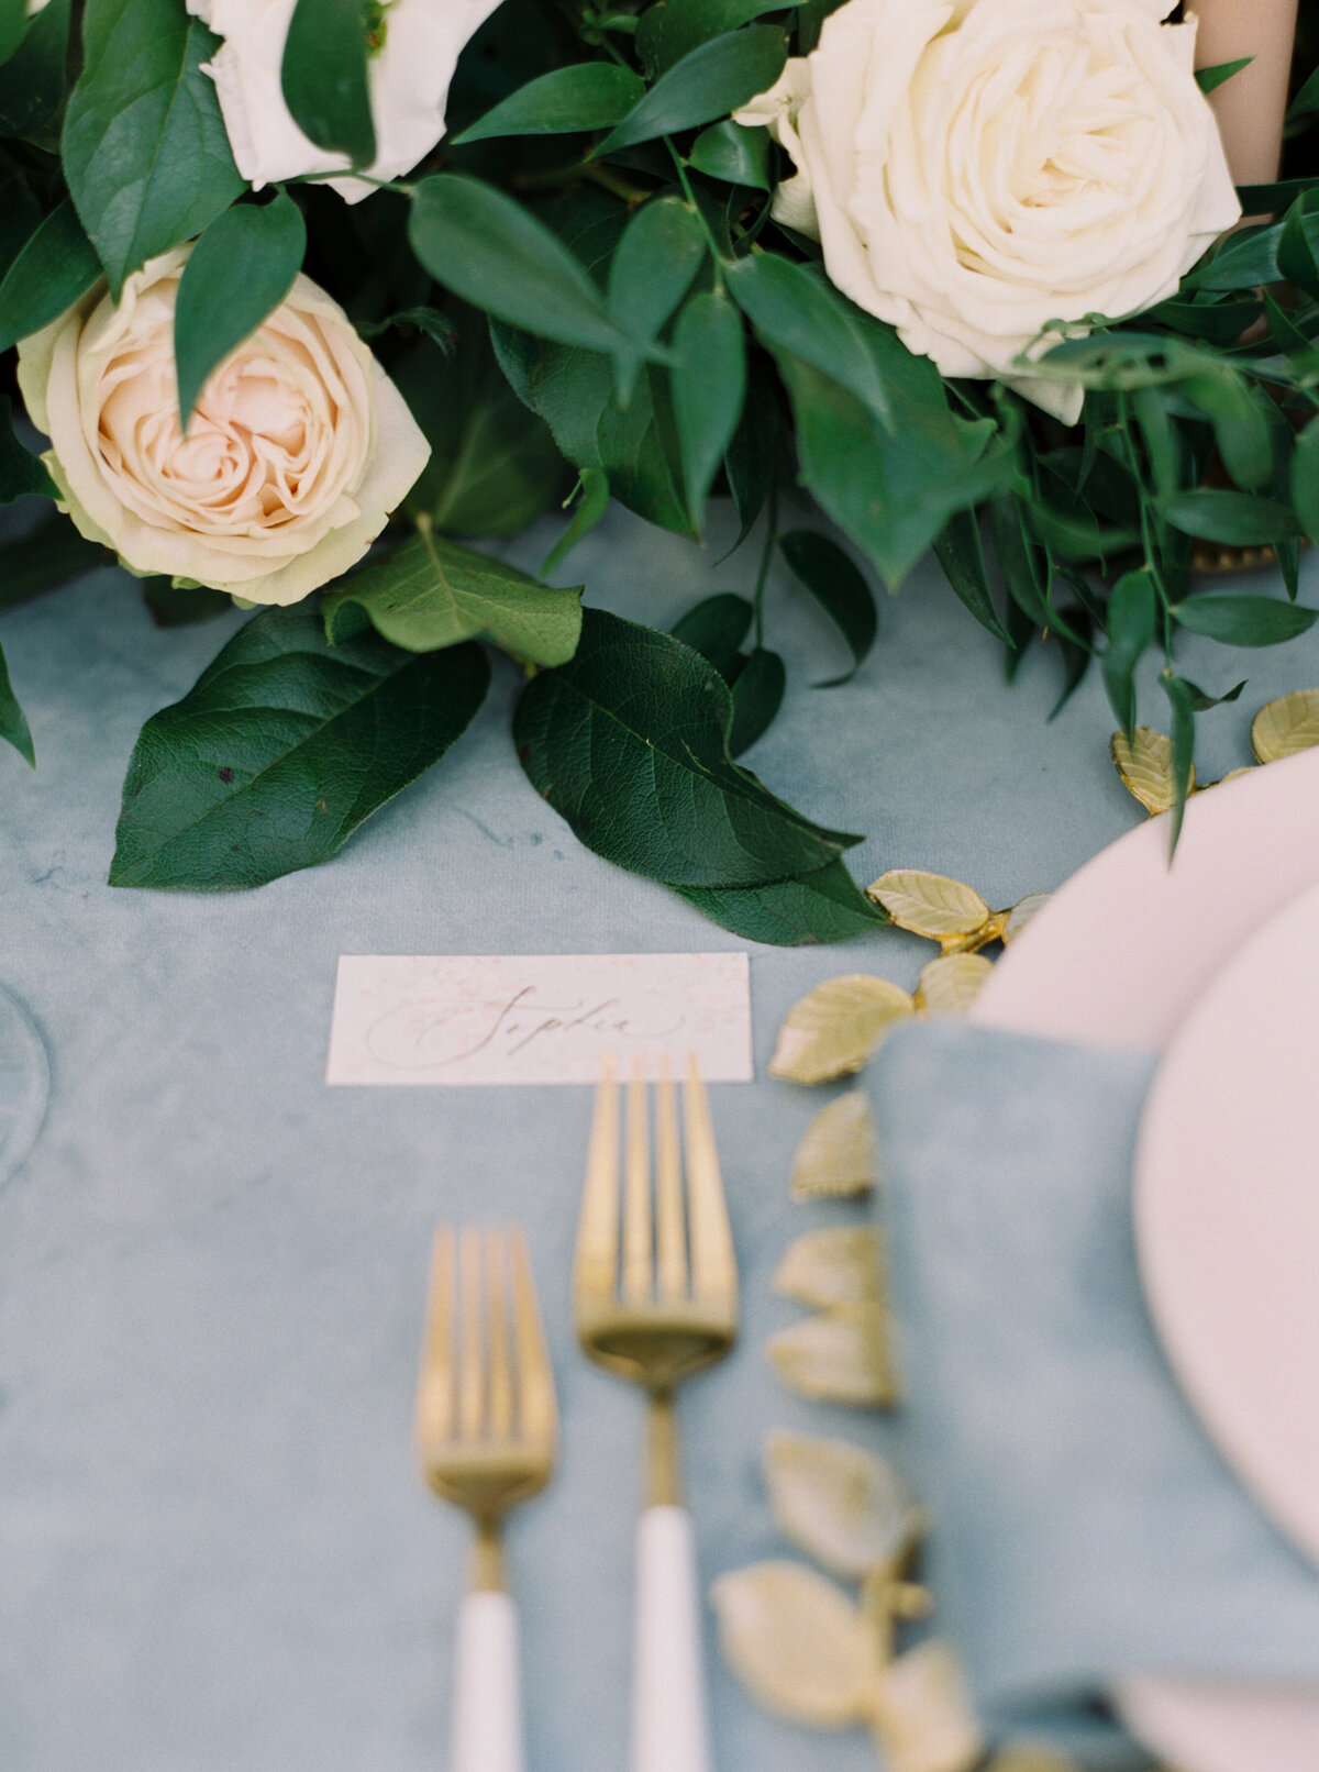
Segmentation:
<svg viewBox="0 0 1319 1772">
<path fill-rule="evenodd" d="M 1319 750 L 1197 794 L 1167 856 L 1167 819 L 1101 851 L 1003 953 L 972 1019 L 1163 1051 L 1236 950 L 1319 882 Z M 1319 1692 L 1131 1675 L 1113 1696 L 1184 1772 L 1319 1767 Z"/>
</svg>

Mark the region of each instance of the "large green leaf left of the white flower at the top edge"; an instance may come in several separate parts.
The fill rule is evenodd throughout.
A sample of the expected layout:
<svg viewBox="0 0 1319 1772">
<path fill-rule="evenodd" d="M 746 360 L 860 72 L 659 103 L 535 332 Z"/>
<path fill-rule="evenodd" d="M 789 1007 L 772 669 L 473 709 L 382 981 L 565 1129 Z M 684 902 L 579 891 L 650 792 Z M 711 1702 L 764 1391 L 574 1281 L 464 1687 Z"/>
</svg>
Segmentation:
<svg viewBox="0 0 1319 1772">
<path fill-rule="evenodd" d="M 124 278 L 243 191 L 215 82 L 218 39 L 177 0 L 87 0 L 62 159 L 115 301 Z"/>
</svg>

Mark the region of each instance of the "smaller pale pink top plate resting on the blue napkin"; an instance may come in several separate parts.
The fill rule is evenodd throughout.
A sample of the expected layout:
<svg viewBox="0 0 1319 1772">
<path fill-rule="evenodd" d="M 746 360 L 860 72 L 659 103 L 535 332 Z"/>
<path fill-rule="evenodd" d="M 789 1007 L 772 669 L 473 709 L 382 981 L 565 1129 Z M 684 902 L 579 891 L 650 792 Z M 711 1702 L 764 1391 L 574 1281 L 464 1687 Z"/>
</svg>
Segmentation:
<svg viewBox="0 0 1319 1772">
<path fill-rule="evenodd" d="M 1177 1030 L 1140 1122 L 1136 1251 L 1218 1449 L 1319 1563 L 1319 890 L 1257 930 Z"/>
</svg>

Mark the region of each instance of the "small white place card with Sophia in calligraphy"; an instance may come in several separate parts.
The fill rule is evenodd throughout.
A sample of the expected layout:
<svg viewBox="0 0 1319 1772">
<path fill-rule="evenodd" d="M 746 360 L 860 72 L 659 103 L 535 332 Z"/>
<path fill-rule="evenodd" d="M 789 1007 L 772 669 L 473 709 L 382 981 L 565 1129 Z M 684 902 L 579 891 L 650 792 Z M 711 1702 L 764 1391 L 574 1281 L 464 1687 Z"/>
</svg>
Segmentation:
<svg viewBox="0 0 1319 1772">
<path fill-rule="evenodd" d="M 344 953 L 326 1083 L 750 1083 L 745 953 Z"/>
</svg>

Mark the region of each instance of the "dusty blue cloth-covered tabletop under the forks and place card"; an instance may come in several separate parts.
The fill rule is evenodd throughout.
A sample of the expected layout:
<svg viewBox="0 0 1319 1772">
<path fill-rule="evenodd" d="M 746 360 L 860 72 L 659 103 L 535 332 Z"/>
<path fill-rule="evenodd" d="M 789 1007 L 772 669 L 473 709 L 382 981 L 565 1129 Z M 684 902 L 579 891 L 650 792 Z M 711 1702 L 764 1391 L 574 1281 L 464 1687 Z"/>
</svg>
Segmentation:
<svg viewBox="0 0 1319 1772">
<path fill-rule="evenodd" d="M 548 532 L 511 556 L 534 565 Z M 753 558 L 612 516 L 573 556 L 587 599 L 667 626 Z M 1303 597 L 1314 601 L 1314 562 Z M 1269 576 L 1246 579 L 1271 588 Z M 1308 597 L 1307 597 L 1308 587 Z M 628 1714 L 642 1407 L 585 1364 L 567 1274 L 589 1092 L 323 1083 L 340 953 L 693 952 L 746 943 L 583 851 L 489 703 L 330 865 L 252 893 L 112 891 L 119 785 L 142 721 L 239 617 L 156 631 L 101 571 L 0 618 L 34 728 L 0 755 L 0 980 L 28 1006 L 51 1099 L 0 1193 L 0 1765 L 5 1772 L 431 1772 L 445 1761 L 466 1524 L 420 1487 L 411 1398 L 431 1228 L 528 1226 L 564 1419 L 551 1488 L 511 1527 L 530 1772 L 617 1772 Z M 784 714 L 748 762 L 824 824 L 867 831 L 858 879 L 925 867 L 993 904 L 1057 886 L 1140 810 L 1113 776 L 1097 675 L 1048 723 L 1057 656 L 1014 689 L 933 563 L 883 597 L 858 677 L 771 578 Z M 1319 636 L 1184 672 L 1241 702 L 1202 721 L 1200 773 L 1248 762 L 1253 711 L 1319 684 Z M 1239 666 L 1239 668 L 1237 668 Z M 1142 718 L 1163 725 L 1152 672 Z M 683 1395 L 704 1579 L 791 1554 L 757 1474 L 775 1425 L 897 1449 L 892 1423 L 805 1403 L 762 1345 L 791 1237 L 865 1207 L 787 1198 L 826 1099 L 766 1077 L 789 1003 L 839 971 L 906 985 L 927 943 L 750 946 L 759 1081 L 713 1090 L 745 1283 L 734 1357 Z M 860 1733 L 789 1728 L 709 1643 L 722 1772 L 862 1772 Z"/>
</svg>

